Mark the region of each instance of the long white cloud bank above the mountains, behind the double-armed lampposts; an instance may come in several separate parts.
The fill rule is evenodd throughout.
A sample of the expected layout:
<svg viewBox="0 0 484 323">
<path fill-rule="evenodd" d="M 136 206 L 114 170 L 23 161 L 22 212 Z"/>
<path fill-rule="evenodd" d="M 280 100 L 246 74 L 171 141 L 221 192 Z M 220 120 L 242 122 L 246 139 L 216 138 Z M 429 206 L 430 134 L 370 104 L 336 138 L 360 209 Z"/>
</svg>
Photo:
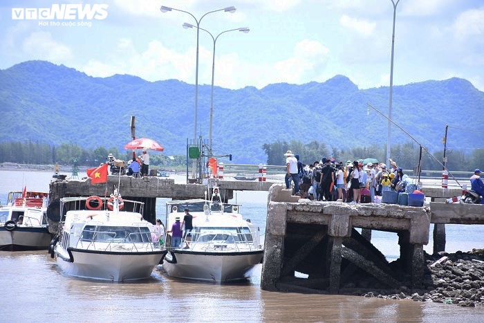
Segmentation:
<svg viewBox="0 0 484 323">
<path fill-rule="evenodd" d="M 122 53 L 122 55 L 120 55 Z M 292 57 L 272 64 L 249 63 L 236 53 L 217 55 L 214 84 L 239 89 L 247 84 L 263 87 L 270 83 L 304 83 L 321 80 L 328 62 L 329 50 L 319 41 L 304 39 L 293 50 Z M 194 84 L 195 48 L 178 53 L 166 48 L 160 41 L 151 41 L 142 52 L 137 51 L 131 39 L 120 39 L 112 53 L 102 62 L 90 60 L 77 66 L 88 75 L 106 77 L 114 74 L 137 75 L 145 80 L 177 79 Z M 199 51 L 198 84 L 212 82 L 212 49 L 203 46 Z M 236 77 L 234 77 L 236 75 Z M 257 75 L 257 76 L 256 76 Z"/>
</svg>

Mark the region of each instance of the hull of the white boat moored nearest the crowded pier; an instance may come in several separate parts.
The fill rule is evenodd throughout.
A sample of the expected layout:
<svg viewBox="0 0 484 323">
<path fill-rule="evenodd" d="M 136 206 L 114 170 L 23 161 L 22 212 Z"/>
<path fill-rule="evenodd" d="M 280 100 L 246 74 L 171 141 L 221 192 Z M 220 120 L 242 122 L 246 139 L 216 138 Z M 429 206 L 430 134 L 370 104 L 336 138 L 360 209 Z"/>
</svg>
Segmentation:
<svg viewBox="0 0 484 323">
<path fill-rule="evenodd" d="M 194 252 L 171 250 L 163 270 L 172 277 L 224 283 L 247 279 L 261 263 L 263 250 L 248 252 Z"/>
</svg>

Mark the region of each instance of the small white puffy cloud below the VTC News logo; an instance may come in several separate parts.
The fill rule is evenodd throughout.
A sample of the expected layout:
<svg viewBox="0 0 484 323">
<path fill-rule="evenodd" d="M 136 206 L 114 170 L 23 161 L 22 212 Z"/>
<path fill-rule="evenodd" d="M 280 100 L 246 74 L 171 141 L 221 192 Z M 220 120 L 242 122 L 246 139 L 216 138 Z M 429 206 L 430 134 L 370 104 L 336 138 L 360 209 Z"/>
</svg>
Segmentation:
<svg viewBox="0 0 484 323">
<path fill-rule="evenodd" d="M 47 59 L 55 63 L 65 62 L 72 57 L 68 46 L 55 41 L 50 33 L 44 31 L 30 34 L 24 40 L 22 50 L 25 53 L 35 53 L 36 59 Z"/>
</svg>

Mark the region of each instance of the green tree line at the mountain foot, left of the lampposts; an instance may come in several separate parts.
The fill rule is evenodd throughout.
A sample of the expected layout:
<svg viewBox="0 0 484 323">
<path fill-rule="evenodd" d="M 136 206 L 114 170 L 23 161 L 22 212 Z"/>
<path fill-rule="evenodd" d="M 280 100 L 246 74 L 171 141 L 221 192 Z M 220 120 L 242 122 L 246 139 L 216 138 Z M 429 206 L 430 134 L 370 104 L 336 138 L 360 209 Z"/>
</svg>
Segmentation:
<svg viewBox="0 0 484 323">
<path fill-rule="evenodd" d="M 41 142 L 0 142 L 0 163 L 19 163 L 27 165 L 74 165 L 94 167 L 105 163 L 108 155 L 113 154 L 121 160 L 131 160 L 131 150 L 120 152 L 117 147 L 97 147 L 84 149 L 73 143 L 64 143 L 58 147 Z M 141 155 L 141 151 L 137 151 Z M 165 156 L 150 154 L 150 164 L 160 167 L 186 165 L 186 156 Z"/>
</svg>

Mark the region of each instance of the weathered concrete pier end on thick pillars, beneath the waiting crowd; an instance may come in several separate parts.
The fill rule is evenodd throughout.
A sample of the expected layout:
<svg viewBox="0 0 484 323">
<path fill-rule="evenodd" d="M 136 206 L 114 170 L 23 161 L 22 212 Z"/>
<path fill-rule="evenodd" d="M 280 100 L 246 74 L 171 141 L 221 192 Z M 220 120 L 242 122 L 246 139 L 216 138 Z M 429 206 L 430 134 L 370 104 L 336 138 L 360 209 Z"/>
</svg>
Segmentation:
<svg viewBox="0 0 484 323">
<path fill-rule="evenodd" d="M 362 228 L 398 233 L 402 270 L 411 277 L 409 287 L 419 288 L 431 215 L 429 207 L 308 201 L 291 196 L 283 185 L 272 185 L 261 287 L 304 286 L 315 293 L 337 294 L 356 268 L 387 288 L 402 286 L 382 253 L 355 230 Z M 295 271 L 308 275 L 306 282 L 295 279 Z"/>
</svg>

